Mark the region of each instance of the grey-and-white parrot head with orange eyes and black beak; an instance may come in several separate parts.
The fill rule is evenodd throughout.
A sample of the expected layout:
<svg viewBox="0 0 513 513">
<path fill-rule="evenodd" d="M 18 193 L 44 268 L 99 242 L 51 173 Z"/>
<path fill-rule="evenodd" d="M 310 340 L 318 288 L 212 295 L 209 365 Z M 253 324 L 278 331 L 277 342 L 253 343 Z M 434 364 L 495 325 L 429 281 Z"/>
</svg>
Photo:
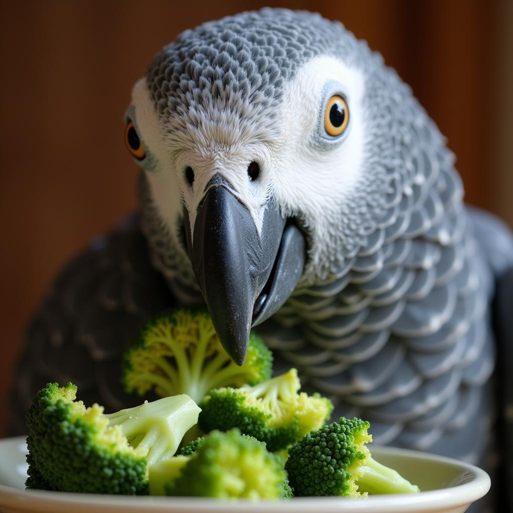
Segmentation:
<svg viewBox="0 0 513 513">
<path fill-rule="evenodd" d="M 379 54 L 318 14 L 242 13 L 157 54 L 126 112 L 143 228 L 236 363 L 252 326 L 393 222 L 426 118 Z"/>
</svg>

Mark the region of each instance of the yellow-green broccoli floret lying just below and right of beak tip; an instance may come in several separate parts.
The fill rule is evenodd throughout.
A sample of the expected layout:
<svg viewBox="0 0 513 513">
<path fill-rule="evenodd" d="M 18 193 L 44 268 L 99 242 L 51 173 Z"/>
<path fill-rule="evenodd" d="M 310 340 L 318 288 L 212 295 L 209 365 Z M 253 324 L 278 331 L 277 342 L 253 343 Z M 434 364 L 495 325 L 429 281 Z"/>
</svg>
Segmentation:
<svg viewBox="0 0 513 513">
<path fill-rule="evenodd" d="M 200 404 L 198 425 L 206 432 L 236 427 L 266 442 L 271 451 L 284 449 L 321 427 L 333 410 L 331 401 L 318 393 L 299 393 L 300 388 L 298 371 L 290 369 L 258 385 L 210 390 Z"/>
</svg>

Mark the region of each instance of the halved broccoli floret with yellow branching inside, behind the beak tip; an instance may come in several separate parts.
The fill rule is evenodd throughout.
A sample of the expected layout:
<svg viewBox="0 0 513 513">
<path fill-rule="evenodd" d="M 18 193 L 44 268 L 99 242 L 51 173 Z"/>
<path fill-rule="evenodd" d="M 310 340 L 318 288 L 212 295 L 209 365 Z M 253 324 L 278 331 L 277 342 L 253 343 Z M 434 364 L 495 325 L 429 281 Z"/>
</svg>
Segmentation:
<svg viewBox="0 0 513 513">
<path fill-rule="evenodd" d="M 211 388 L 257 384 L 271 370 L 272 353 L 254 333 L 239 366 L 223 349 L 207 311 L 174 309 L 149 321 L 125 352 L 123 382 L 141 396 L 154 389 L 161 397 L 186 393 L 200 402 Z"/>
</svg>

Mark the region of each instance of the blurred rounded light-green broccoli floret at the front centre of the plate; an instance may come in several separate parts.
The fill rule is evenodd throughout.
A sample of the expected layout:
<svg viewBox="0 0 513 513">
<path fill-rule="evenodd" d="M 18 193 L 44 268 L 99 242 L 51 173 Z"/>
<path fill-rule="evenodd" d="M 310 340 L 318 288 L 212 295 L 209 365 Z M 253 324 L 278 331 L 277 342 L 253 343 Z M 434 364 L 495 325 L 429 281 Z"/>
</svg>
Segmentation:
<svg viewBox="0 0 513 513">
<path fill-rule="evenodd" d="M 197 445 L 179 476 L 166 485 L 170 496 L 218 499 L 283 499 L 291 496 L 279 458 L 238 429 L 212 431 Z"/>
</svg>

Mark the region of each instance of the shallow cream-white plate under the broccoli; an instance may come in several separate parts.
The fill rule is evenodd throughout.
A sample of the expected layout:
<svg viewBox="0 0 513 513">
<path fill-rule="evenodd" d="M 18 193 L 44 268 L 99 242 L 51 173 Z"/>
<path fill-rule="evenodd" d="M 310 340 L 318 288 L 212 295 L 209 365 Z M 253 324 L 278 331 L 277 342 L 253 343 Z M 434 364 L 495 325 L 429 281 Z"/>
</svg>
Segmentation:
<svg viewBox="0 0 513 513">
<path fill-rule="evenodd" d="M 250 503 L 212 499 L 128 497 L 25 490 L 23 437 L 0 440 L 0 509 L 5 513 L 460 513 L 483 497 L 490 478 L 483 470 L 422 452 L 372 446 L 372 456 L 418 484 L 420 494 L 367 499 L 294 498 Z"/>
</svg>

